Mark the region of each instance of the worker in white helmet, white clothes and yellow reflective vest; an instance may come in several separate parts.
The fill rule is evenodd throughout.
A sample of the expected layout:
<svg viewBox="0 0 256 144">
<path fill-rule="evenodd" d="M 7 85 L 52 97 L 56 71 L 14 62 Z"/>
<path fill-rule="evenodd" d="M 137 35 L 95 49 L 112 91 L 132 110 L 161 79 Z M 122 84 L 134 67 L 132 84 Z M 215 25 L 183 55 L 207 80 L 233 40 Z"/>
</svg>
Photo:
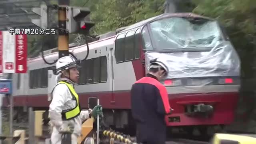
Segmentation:
<svg viewBox="0 0 256 144">
<path fill-rule="evenodd" d="M 82 122 L 90 116 L 102 116 L 102 107 L 92 110 L 81 110 L 78 94 L 74 85 L 79 79 L 80 60 L 73 56 L 64 56 L 56 62 L 56 86 L 52 90 L 52 101 L 49 106 L 51 125 L 51 143 L 61 144 L 62 134 L 70 132 L 71 144 L 77 144 L 81 135 Z"/>
</svg>

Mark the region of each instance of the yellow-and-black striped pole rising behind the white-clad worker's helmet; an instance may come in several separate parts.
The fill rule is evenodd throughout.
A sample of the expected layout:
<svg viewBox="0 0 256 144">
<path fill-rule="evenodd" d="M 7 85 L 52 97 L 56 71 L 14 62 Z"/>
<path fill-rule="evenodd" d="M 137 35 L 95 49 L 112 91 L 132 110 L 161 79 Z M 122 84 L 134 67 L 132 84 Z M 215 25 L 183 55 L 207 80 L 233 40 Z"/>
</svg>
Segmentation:
<svg viewBox="0 0 256 144">
<path fill-rule="evenodd" d="M 58 0 L 58 51 L 59 58 L 68 56 L 68 32 L 66 30 L 66 10 L 68 10 L 69 0 Z"/>
</svg>

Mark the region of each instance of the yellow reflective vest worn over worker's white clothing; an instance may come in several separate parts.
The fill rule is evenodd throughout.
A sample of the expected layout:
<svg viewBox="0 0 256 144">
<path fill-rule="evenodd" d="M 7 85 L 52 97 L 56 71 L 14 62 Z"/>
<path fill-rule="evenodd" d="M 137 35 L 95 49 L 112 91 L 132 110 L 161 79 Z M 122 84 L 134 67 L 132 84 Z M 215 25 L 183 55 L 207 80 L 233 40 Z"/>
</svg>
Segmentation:
<svg viewBox="0 0 256 144">
<path fill-rule="evenodd" d="M 76 94 L 76 91 L 74 90 L 73 86 L 68 82 L 60 81 L 58 82 L 58 84 L 66 84 L 66 86 L 68 86 L 70 93 L 72 94 L 73 99 L 76 100 L 76 106 L 74 108 L 70 108 L 68 110 L 62 110 L 61 112 L 62 120 L 70 120 L 72 118 L 76 118 L 77 116 L 80 115 L 80 112 L 81 112 L 78 94 Z M 56 86 L 58 84 L 56 84 Z"/>
</svg>

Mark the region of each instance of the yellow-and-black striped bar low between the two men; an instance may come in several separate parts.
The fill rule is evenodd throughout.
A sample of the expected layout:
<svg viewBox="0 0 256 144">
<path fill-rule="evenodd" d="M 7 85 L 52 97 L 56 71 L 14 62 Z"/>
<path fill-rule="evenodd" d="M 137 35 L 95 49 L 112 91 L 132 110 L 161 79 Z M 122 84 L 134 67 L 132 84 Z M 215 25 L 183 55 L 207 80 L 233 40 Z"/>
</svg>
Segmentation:
<svg viewBox="0 0 256 144">
<path fill-rule="evenodd" d="M 104 130 L 103 135 L 110 137 L 111 139 L 110 143 L 112 143 L 112 141 L 116 139 L 116 140 L 119 140 L 120 142 L 123 142 L 124 144 L 137 144 L 136 142 L 132 142 L 132 140 L 130 140 L 129 138 L 125 138 L 121 134 L 118 134 L 114 131 Z"/>
</svg>

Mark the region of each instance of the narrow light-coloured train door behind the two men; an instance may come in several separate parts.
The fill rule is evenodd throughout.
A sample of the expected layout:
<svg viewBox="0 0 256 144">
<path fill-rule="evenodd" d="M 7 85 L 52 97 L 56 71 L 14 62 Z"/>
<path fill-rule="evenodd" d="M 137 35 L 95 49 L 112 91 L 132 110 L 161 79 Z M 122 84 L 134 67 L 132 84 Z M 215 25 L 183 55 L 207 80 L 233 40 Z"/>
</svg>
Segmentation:
<svg viewBox="0 0 256 144">
<path fill-rule="evenodd" d="M 112 90 L 112 98 L 110 103 L 114 104 L 115 100 L 114 100 L 114 48 L 110 48 L 110 60 L 109 60 L 109 66 L 110 66 L 110 86 L 111 86 L 111 90 Z"/>
</svg>

